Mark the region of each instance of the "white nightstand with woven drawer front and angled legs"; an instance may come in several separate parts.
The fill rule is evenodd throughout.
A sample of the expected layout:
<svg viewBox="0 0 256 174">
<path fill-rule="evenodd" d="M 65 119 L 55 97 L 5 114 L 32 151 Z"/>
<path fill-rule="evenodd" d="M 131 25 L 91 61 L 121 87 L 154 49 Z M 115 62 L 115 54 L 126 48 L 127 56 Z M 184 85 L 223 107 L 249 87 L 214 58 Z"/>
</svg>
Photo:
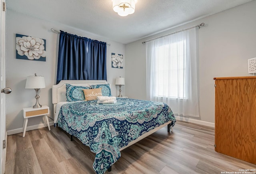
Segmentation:
<svg viewBox="0 0 256 174">
<path fill-rule="evenodd" d="M 23 123 L 23 137 L 26 134 L 26 129 L 28 125 L 28 118 L 31 117 L 38 117 L 44 115 L 44 118 L 46 119 L 47 125 L 49 130 L 50 129 L 50 124 L 48 121 L 47 115 L 49 114 L 49 107 L 48 106 L 42 106 L 40 108 L 33 108 L 33 107 L 27 107 L 23 108 L 23 117 L 24 117 L 24 123 Z"/>
</svg>

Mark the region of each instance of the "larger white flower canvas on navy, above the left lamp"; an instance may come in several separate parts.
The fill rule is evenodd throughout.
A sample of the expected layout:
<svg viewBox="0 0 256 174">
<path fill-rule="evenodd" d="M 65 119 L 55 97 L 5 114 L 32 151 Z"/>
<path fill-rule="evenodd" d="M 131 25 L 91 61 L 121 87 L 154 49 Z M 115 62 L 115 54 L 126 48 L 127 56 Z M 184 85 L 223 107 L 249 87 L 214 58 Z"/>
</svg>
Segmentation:
<svg viewBox="0 0 256 174">
<path fill-rule="evenodd" d="M 16 34 L 16 59 L 46 61 L 46 40 Z"/>
</svg>

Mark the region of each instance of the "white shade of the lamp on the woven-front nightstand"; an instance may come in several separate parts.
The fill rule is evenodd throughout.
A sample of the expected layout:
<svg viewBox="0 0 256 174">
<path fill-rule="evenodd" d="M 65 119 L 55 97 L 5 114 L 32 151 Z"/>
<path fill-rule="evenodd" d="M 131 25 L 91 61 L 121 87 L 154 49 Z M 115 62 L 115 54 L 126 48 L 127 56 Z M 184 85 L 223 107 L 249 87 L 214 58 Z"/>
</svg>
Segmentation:
<svg viewBox="0 0 256 174">
<path fill-rule="evenodd" d="M 41 89 L 45 88 L 44 76 L 28 76 L 26 81 L 26 89 Z"/>
</svg>

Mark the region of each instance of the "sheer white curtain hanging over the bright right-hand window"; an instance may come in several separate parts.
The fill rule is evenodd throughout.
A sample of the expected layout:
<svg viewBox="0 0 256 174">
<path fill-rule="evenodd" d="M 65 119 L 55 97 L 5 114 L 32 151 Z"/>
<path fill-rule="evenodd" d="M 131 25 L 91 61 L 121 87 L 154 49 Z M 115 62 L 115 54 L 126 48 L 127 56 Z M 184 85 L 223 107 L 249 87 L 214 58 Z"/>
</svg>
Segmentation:
<svg viewBox="0 0 256 174">
<path fill-rule="evenodd" d="M 196 28 L 146 42 L 147 98 L 199 117 Z"/>
</svg>

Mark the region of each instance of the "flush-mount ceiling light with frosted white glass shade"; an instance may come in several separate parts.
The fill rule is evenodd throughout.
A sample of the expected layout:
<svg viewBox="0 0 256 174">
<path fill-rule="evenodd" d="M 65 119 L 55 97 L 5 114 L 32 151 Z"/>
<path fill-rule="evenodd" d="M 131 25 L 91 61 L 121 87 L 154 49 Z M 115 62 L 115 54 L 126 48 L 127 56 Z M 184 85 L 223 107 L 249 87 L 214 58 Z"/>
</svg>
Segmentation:
<svg viewBox="0 0 256 174">
<path fill-rule="evenodd" d="M 112 0 L 113 10 L 120 16 L 133 14 L 137 0 Z"/>
</svg>

